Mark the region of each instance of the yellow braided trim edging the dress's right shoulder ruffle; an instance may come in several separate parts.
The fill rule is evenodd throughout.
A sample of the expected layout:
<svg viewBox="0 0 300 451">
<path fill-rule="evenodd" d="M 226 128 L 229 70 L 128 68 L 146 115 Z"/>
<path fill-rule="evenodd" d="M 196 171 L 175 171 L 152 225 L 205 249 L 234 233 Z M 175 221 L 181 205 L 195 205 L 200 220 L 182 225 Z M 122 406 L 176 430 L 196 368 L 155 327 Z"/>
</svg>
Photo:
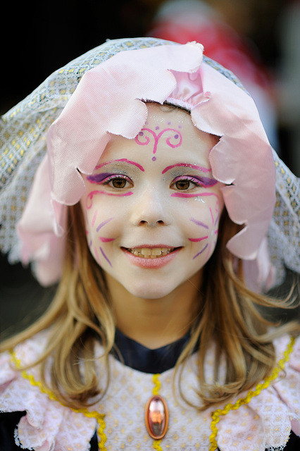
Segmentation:
<svg viewBox="0 0 300 451">
<path fill-rule="evenodd" d="M 253 391 L 249 390 L 249 392 L 246 394 L 246 397 L 240 398 L 239 400 L 237 400 L 237 402 L 235 402 L 235 404 L 231 404 L 231 403 L 226 404 L 224 409 L 217 409 L 211 413 L 211 418 L 212 418 L 211 431 L 212 431 L 212 433 L 209 437 L 209 441 L 211 443 L 211 446 L 209 447 L 209 451 L 215 451 L 218 448 L 217 440 L 215 440 L 215 439 L 218 435 L 218 428 L 217 428 L 216 424 L 218 424 L 218 422 L 220 421 L 220 416 L 224 416 L 228 412 L 230 412 L 230 410 L 237 410 L 242 405 L 248 404 L 254 396 L 257 396 L 257 395 L 259 395 L 259 393 L 261 393 L 261 390 L 268 388 L 270 383 L 277 378 L 280 371 L 285 369 L 285 364 L 289 361 L 289 356 L 292 353 L 292 350 L 294 347 L 294 342 L 295 342 L 295 338 L 291 337 L 291 341 L 289 342 L 289 345 L 287 345 L 287 349 L 285 350 L 282 359 L 280 359 L 280 361 L 278 362 L 275 369 L 273 369 L 270 376 L 265 378 L 265 381 L 263 381 L 263 383 L 258 383 L 258 385 L 256 385 L 256 388 Z"/>
</svg>

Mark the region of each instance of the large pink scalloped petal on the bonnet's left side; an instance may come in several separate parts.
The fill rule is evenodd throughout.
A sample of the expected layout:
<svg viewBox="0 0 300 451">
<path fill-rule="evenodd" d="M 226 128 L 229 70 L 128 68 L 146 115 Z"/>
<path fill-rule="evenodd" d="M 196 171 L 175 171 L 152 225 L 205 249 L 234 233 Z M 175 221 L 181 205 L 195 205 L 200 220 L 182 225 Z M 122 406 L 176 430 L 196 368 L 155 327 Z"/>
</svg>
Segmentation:
<svg viewBox="0 0 300 451">
<path fill-rule="evenodd" d="M 163 103 L 176 86 L 170 70 L 194 72 L 201 44 L 125 51 L 83 75 L 47 137 L 52 199 L 76 204 L 85 192 L 78 171 L 92 173 L 110 136 L 134 138 L 146 122 L 141 100 Z"/>
</svg>

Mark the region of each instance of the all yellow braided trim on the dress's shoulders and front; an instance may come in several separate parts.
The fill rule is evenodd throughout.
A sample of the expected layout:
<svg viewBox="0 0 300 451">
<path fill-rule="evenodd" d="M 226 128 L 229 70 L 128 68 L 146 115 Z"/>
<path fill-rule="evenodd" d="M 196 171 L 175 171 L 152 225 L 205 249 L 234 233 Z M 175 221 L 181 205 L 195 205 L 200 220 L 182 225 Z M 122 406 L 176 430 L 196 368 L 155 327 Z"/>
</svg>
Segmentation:
<svg viewBox="0 0 300 451">
<path fill-rule="evenodd" d="M 256 385 L 256 388 L 254 390 L 249 390 L 249 392 L 246 394 L 246 396 L 243 398 L 239 398 L 237 400 L 237 402 L 235 402 L 235 404 L 228 403 L 225 405 L 225 407 L 223 409 L 217 409 L 211 413 L 211 418 L 212 418 L 211 431 L 212 431 L 212 433 L 209 437 L 209 441 L 211 443 L 211 446 L 209 447 L 209 451 L 215 451 L 218 448 L 218 444 L 217 444 L 217 440 L 216 440 L 216 437 L 218 435 L 218 428 L 216 425 L 220 421 L 220 416 L 225 416 L 228 412 L 230 412 L 230 410 L 237 410 L 242 405 L 249 404 L 249 402 L 251 401 L 251 399 L 253 397 L 258 396 L 262 390 L 264 390 L 265 388 L 268 388 L 270 383 L 272 383 L 277 378 L 280 371 L 283 371 L 285 369 L 285 364 L 289 361 L 290 354 L 293 351 L 294 343 L 295 343 L 295 338 L 291 337 L 289 345 L 287 345 L 287 349 L 283 353 L 282 359 L 280 359 L 280 361 L 278 362 L 275 369 L 273 369 L 270 376 L 265 378 L 265 381 L 263 381 L 263 383 L 258 383 L 258 385 Z M 15 364 L 15 368 L 20 369 L 21 368 L 20 359 L 18 359 L 16 357 L 15 352 L 11 352 L 11 356 L 12 356 L 12 361 Z M 59 402 L 58 399 L 56 398 L 56 396 L 54 395 L 54 393 L 52 393 L 50 390 L 45 388 L 44 385 L 42 385 L 42 383 L 40 381 L 36 381 L 34 376 L 32 376 L 32 374 L 27 373 L 27 371 L 25 371 L 25 370 L 21 370 L 20 372 L 21 372 L 21 376 L 23 378 L 27 379 L 31 385 L 38 387 L 42 393 L 45 393 L 46 395 L 48 395 L 50 400 Z M 152 378 L 152 381 L 154 383 L 154 388 L 152 390 L 153 395 L 158 395 L 159 389 L 161 388 L 161 382 L 158 379 L 159 376 L 160 376 L 159 374 L 154 374 L 154 376 Z M 97 434 L 100 438 L 99 443 L 98 443 L 99 450 L 107 451 L 106 446 L 105 446 L 105 443 L 107 440 L 106 434 L 105 434 L 105 427 L 106 427 L 106 423 L 104 420 L 105 414 L 99 414 L 99 412 L 90 412 L 88 409 L 72 409 L 72 410 L 73 410 L 73 412 L 81 413 L 89 418 L 96 419 L 96 421 L 98 423 Z M 153 445 L 154 445 L 154 450 L 163 451 L 163 448 L 161 447 L 161 440 L 154 440 Z"/>
</svg>

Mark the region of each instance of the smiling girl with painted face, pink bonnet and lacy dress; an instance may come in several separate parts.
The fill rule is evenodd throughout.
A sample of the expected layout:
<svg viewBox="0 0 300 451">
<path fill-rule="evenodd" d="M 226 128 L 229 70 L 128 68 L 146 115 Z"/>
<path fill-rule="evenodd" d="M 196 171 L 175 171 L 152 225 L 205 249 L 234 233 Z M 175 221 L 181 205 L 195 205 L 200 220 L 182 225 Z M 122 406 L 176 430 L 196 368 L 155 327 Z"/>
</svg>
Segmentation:
<svg viewBox="0 0 300 451">
<path fill-rule="evenodd" d="M 300 327 L 263 295 L 299 182 L 202 52 L 109 41 L 4 116 L 3 250 L 60 282 L 2 345 L 1 450 L 299 450 Z"/>
</svg>

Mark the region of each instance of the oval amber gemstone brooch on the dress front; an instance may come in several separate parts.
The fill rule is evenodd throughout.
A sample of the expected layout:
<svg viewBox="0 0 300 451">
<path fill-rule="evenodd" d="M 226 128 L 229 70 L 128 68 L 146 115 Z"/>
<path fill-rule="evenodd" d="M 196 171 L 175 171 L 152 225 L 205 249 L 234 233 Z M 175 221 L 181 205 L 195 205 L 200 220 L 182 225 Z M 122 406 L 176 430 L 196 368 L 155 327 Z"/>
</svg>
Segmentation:
<svg viewBox="0 0 300 451">
<path fill-rule="evenodd" d="M 146 428 L 152 438 L 159 440 L 165 436 L 168 418 L 168 407 L 163 397 L 152 396 L 145 410 Z"/>
</svg>

